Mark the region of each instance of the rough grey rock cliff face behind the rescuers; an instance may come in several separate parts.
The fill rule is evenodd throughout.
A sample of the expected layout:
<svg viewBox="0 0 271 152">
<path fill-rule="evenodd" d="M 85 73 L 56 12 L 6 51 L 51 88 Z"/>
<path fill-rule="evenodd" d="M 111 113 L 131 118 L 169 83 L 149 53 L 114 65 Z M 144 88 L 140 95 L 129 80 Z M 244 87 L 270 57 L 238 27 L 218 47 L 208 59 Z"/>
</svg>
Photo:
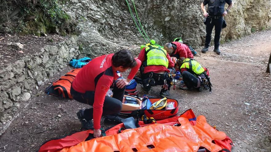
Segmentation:
<svg viewBox="0 0 271 152">
<path fill-rule="evenodd" d="M 135 14 L 132 1 L 128 0 Z M 150 39 L 158 44 L 182 37 L 194 47 L 205 41 L 205 25 L 200 0 L 136 0 L 140 21 Z M 225 17 L 221 41 L 228 41 L 271 27 L 271 0 L 234 0 Z M 225 9 L 227 8 L 227 4 Z M 81 40 L 91 57 L 112 52 L 121 46 L 139 50 L 144 39 L 136 29 L 125 0 L 71 0 L 64 5 L 68 14 L 80 21 Z M 97 45 L 101 45 L 97 46 Z"/>
</svg>

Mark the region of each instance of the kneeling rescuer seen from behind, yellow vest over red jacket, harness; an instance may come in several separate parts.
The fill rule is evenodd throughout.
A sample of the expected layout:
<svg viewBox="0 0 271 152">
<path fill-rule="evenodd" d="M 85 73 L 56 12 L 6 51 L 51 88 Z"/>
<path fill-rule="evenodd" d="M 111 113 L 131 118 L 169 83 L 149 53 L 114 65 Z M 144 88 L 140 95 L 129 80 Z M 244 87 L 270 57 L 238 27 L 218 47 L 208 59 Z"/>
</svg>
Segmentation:
<svg viewBox="0 0 271 152">
<path fill-rule="evenodd" d="M 167 51 L 159 46 L 148 44 L 141 50 L 137 59 L 142 63 L 140 74 L 144 92 L 148 93 L 154 85 L 163 85 L 160 96 L 168 97 L 168 89 L 172 82 L 168 73 L 175 70 Z"/>
</svg>

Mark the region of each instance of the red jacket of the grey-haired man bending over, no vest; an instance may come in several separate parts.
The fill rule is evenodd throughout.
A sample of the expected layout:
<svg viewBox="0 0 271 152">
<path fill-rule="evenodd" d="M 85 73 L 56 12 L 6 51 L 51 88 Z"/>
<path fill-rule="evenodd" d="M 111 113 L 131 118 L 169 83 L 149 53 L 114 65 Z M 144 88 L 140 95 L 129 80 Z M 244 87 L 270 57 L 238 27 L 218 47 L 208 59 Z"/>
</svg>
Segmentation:
<svg viewBox="0 0 271 152">
<path fill-rule="evenodd" d="M 187 45 L 182 44 L 180 42 L 171 42 L 171 43 L 176 45 L 176 50 L 173 54 L 170 54 L 170 56 L 178 54 L 180 57 L 194 59 L 194 56 Z"/>
</svg>

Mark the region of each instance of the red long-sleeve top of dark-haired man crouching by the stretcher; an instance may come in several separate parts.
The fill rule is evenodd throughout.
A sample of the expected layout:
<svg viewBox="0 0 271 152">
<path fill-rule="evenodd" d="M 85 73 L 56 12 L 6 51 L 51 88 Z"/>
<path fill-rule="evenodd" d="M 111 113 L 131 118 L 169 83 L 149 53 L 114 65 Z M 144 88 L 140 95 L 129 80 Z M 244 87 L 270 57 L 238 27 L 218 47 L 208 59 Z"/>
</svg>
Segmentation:
<svg viewBox="0 0 271 152">
<path fill-rule="evenodd" d="M 75 77 L 72 83 L 72 88 L 80 93 L 86 91 L 95 91 L 93 104 L 93 122 L 94 129 L 100 129 L 100 121 L 103 113 L 103 102 L 105 95 L 111 87 L 113 80 L 119 76 L 112 65 L 112 56 L 114 54 L 103 55 L 91 60 L 85 65 Z M 136 67 L 131 69 L 128 79 L 133 79 L 138 71 L 141 62 L 137 62 Z"/>
</svg>

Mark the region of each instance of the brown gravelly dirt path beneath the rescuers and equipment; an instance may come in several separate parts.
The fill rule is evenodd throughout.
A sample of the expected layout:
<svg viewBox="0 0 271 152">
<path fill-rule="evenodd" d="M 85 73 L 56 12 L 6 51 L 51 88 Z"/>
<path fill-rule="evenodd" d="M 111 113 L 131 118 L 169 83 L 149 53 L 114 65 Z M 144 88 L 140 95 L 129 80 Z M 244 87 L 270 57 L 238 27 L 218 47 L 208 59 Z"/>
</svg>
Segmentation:
<svg viewBox="0 0 271 152">
<path fill-rule="evenodd" d="M 221 50 L 221 55 L 210 49 L 195 57 L 210 69 L 212 92 L 182 91 L 177 85 L 170 91 L 171 98 L 179 101 L 180 113 L 192 108 L 196 115 L 204 115 L 211 125 L 226 132 L 235 144 L 233 151 L 270 152 L 271 77 L 265 70 L 271 31 L 226 43 Z M 54 79 L 68 70 L 56 73 Z M 42 92 L 46 87 L 39 88 L 29 104 L 22 103 L 25 107 L 0 137 L 0 151 L 36 151 L 47 139 L 80 130 L 75 113 L 87 105 L 46 95 Z M 149 95 L 158 96 L 159 89 L 154 88 Z"/>
</svg>

